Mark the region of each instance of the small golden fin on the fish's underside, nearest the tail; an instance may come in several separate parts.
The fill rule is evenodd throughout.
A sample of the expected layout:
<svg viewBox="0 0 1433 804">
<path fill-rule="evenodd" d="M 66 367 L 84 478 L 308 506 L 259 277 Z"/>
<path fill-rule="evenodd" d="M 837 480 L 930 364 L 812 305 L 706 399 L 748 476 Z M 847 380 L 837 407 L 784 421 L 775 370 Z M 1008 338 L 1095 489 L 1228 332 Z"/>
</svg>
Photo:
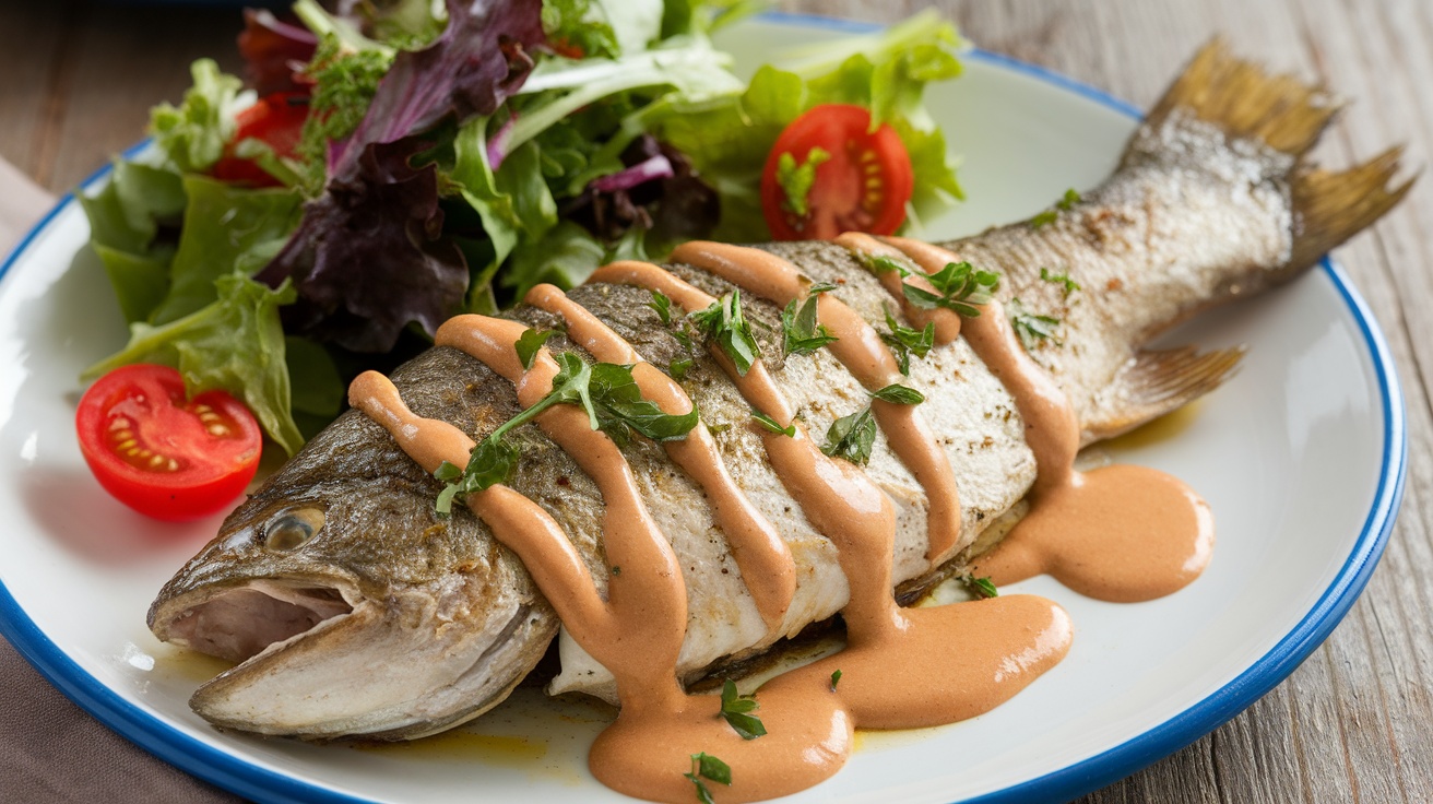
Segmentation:
<svg viewBox="0 0 1433 804">
<path fill-rule="evenodd" d="M 1234 375 L 1244 353 L 1244 347 L 1141 350 L 1101 391 L 1095 416 L 1083 421 L 1082 446 L 1134 430 L 1212 391 Z"/>
</svg>

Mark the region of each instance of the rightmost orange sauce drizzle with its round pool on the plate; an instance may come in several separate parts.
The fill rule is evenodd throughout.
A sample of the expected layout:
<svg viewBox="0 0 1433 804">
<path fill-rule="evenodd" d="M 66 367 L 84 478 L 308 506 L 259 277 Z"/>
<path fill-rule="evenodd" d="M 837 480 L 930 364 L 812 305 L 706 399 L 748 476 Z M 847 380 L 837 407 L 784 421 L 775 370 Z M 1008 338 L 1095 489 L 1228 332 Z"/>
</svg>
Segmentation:
<svg viewBox="0 0 1433 804">
<path fill-rule="evenodd" d="M 886 238 L 927 274 L 959 258 L 934 245 Z M 1101 600 L 1169 595 L 1204 572 L 1214 550 L 1208 504 L 1181 480 L 1142 466 L 1075 472 L 1079 420 L 1059 386 L 1030 360 L 1000 302 L 964 321 L 966 341 L 1015 398 L 1035 453 L 1030 513 L 973 572 L 996 585 L 1049 573 Z"/>
</svg>

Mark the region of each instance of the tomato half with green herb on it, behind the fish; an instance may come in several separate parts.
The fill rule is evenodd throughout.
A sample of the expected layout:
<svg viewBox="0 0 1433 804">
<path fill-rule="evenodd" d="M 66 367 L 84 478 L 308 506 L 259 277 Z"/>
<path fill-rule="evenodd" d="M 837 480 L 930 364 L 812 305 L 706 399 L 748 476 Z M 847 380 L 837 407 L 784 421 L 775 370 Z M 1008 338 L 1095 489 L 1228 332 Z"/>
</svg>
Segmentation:
<svg viewBox="0 0 1433 804">
<path fill-rule="evenodd" d="M 870 128 L 868 109 L 823 103 L 781 132 L 761 173 L 761 211 L 775 239 L 831 239 L 853 231 L 890 235 L 900 228 L 914 186 L 910 153 L 890 123 Z M 817 148 L 824 156 L 813 153 Z M 805 199 L 790 198 L 791 182 L 782 186 L 784 153 L 791 155 L 788 166 L 815 162 Z"/>
</svg>

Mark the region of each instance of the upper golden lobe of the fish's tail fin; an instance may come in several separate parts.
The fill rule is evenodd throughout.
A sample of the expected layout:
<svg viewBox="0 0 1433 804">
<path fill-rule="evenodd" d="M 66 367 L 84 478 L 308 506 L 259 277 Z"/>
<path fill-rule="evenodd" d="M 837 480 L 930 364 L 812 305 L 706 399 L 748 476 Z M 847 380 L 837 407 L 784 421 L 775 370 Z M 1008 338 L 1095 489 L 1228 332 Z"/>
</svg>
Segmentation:
<svg viewBox="0 0 1433 804">
<path fill-rule="evenodd" d="M 1145 120 L 1158 128 L 1176 109 L 1217 125 L 1231 139 L 1258 139 L 1301 156 L 1318 142 L 1340 103 L 1321 86 L 1270 75 L 1260 64 L 1234 57 L 1215 37 L 1199 49 Z"/>
</svg>

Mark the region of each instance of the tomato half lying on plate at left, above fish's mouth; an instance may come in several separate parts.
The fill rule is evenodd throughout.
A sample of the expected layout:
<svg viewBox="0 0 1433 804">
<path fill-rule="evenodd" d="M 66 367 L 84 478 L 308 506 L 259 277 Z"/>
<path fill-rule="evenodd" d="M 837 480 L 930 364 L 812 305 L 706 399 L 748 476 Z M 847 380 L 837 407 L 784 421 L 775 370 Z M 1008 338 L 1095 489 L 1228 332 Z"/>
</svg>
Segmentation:
<svg viewBox="0 0 1433 804">
<path fill-rule="evenodd" d="M 185 397 L 168 365 L 122 365 L 75 416 L 90 472 L 119 502 L 155 519 L 199 519 L 234 502 L 259 466 L 264 434 L 224 391 Z"/>
</svg>

